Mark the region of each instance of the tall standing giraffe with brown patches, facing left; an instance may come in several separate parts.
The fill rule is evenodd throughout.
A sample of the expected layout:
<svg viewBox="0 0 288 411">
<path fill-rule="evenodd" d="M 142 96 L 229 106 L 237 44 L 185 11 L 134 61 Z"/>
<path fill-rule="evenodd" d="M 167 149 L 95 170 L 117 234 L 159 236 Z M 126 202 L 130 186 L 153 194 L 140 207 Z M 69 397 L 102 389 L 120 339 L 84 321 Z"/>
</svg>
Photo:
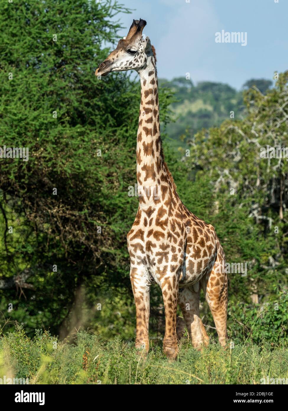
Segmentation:
<svg viewBox="0 0 288 411">
<path fill-rule="evenodd" d="M 210 224 L 192 214 L 180 200 L 164 161 L 160 138 L 156 53 L 143 38 L 145 20 L 133 20 L 127 37 L 97 68 L 96 76 L 134 69 L 141 82 L 136 146 L 139 206 L 127 234 L 130 279 L 136 305 L 136 342 L 149 350 L 150 286 L 162 291 L 165 309 L 164 353 L 175 359 L 177 305 L 180 305 L 192 345 L 207 346 L 209 337 L 199 316 L 203 289 L 219 343 L 226 345 L 228 283 L 225 256 Z"/>
</svg>

